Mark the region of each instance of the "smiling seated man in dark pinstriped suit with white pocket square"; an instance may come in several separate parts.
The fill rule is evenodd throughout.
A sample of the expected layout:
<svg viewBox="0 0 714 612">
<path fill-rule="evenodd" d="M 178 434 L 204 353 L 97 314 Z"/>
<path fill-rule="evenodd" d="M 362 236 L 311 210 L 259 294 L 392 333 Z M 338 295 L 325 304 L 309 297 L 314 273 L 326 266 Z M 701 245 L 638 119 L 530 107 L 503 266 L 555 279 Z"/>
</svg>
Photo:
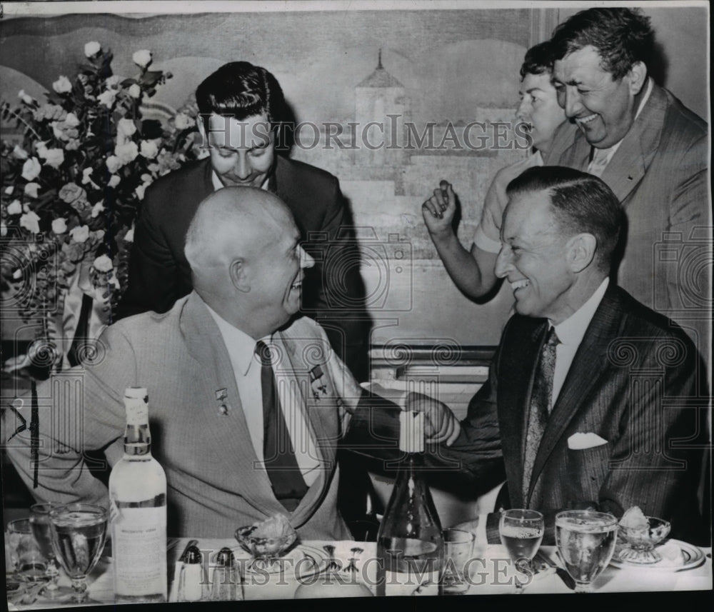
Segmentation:
<svg viewBox="0 0 714 612">
<path fill-rule="evenodd" d="M 511 285 L 516 314 L 460 435 L 430 455 L 435 482 L 481 494 L 505 473 L 496 508 L 543 512 L 546 543 L 560 510 L 619 517 L 631 506 L 697 540 L 706 374 L 679 326 L 608 278 L 623 220 L 617 197 L 597 177 L 558 166 L 527 169 L 507 194 L 496 274 Z M 395 435 L 381 426 L 381 436 Z M 460 527 L 498 542 L 498 518 Z"/>
</svg>

